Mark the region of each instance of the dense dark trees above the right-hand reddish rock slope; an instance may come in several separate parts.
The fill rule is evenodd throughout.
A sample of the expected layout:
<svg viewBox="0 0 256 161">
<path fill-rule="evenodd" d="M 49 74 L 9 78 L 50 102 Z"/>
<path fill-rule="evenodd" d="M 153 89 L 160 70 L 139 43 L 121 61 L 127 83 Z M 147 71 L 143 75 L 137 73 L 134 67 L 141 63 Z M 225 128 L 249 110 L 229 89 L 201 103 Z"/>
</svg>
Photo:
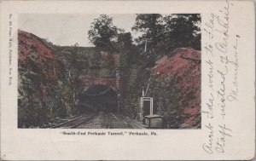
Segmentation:
<svg viewBox="0 0 256 161">
<path fill-rule="evenodd" d="M 137 43 L 147 38 L 151 41 L 148 52 L 160 57 L 176 48 L 201 49 L 200 26 L 200 14 L 169 14 L 164 17 L 161 14 L 137 14 L 132 30 L 143 32 Z"/>
</svg>

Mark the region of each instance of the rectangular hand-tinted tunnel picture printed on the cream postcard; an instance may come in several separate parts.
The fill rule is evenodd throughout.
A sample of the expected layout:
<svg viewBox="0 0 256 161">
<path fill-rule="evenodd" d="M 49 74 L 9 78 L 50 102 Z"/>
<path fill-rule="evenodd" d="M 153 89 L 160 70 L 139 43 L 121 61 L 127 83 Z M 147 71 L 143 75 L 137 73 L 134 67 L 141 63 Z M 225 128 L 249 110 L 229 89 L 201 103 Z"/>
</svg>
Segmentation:
<svg viewBox="0 0 256 161">
<path fill-rule="evenodd" d="M 18 128 L 201 129 L 201 14 L 18 22 Z"/>
</svg>

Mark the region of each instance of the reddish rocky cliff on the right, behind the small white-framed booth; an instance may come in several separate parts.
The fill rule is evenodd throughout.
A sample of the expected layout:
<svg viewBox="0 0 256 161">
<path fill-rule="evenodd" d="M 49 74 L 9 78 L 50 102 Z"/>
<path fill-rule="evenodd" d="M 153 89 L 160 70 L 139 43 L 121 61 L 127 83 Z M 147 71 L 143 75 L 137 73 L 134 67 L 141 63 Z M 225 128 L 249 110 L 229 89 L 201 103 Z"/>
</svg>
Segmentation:
<svg viewBox="0 0 256 161">
<path fill-rule="evenodd" d="M 170 78 L 179 127 L 201 125 L 201 51 L 180 48 L 156 61 L 154 77 L 158 83 Z M 175 94 L 173 94 L 175 93 Z M 170 99 L 172 99 L 170 98 Z M 177 117 L 174 117 L 177 118 Z"/>
</svg>

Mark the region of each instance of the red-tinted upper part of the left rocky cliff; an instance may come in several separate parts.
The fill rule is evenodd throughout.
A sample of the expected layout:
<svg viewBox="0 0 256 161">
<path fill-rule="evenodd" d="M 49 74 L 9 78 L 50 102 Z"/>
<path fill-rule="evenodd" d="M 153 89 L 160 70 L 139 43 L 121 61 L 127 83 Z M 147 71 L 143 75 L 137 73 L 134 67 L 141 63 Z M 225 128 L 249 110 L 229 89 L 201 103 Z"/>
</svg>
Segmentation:
<svg viewBox="0 0 256 161">
<path fill-rule="evenodd" d="M 34 74 L 44 78 L 43 82 L 57 79 L 56 68 L 60 64 L 55 61 L 54 50 L 47 43 L 32 33 L 19 31 L 19 67 L 26 75 Z"/>
</svg>

